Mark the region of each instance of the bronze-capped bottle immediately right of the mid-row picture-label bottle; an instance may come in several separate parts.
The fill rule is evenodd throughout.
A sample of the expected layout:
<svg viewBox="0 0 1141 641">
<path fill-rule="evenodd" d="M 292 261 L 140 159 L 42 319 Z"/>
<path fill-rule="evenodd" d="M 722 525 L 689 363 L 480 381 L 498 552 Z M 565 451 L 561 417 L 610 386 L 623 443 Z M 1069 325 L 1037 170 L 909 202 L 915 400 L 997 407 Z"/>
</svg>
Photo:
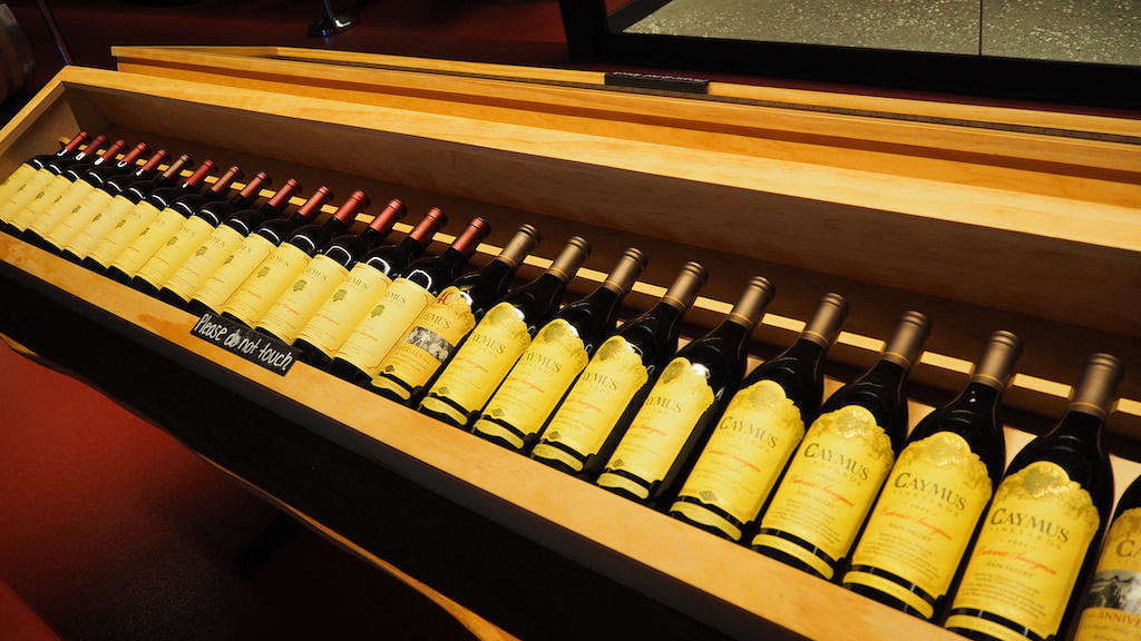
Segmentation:
<svg viewBox="0 0 1141 641">
<path fill-rule="evenodd" d="M 420 412 L 453 427 L 469 425 L 539 327 L 558 311 L 567 283 L 589 255 L 590 243 L 572 236 L 543 274 L 487 310 L 428 391 Z"/>
</svg>

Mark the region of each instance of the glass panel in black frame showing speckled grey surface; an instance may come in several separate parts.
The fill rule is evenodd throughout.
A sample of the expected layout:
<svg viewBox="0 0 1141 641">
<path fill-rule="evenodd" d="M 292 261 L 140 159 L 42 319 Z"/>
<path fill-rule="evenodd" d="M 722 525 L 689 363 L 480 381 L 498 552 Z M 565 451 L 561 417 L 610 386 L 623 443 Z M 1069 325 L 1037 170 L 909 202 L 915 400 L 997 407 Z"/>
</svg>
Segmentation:
<svg viewBox="0 0 1141 641">
<path fill-rule="evenodd" d="M 1141 65 L 1141 0 L 605 0 L 612 32 Z"/>
</svg>

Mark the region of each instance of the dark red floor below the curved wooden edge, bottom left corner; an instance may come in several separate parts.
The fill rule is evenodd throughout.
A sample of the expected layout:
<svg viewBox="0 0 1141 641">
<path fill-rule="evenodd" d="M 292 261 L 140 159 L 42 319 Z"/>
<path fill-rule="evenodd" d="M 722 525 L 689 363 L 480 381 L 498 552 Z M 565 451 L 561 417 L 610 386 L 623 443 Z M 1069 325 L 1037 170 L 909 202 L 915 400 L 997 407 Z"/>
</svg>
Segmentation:
<svg viewBox="0 0 1141 641">
<path fill-rule="evenodd" d="M 0 639 L 469 639 L 98 392 L 0 347 Z"/>
</svg>

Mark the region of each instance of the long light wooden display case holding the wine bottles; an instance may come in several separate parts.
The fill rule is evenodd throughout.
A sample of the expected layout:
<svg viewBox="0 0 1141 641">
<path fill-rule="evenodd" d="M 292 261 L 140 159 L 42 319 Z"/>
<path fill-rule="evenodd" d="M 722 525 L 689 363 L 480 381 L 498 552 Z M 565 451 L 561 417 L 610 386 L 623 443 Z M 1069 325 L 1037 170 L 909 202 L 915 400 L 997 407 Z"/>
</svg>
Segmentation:
<svg viewBox="0 0 1141 641">
<path fill-rule="evenodd" d="M 710 268 L 690 336 L 762 274 L 778 293 L 753 336 L 761 358 L 836 291 L 852 314 L 831 389 L 875 359 L 899 314 L 920 309 L 934 330 L 913 423 L 962 387 L 992 331 L 1012 330 L 1026 356 L 1006 397 L 1010 456 L 1063 409 L 1085 356 L 1109 351 L 1128 375 L 1110 419 L 1118 490 L 1141 471 L 1135 119 L 715 83 L 690 96 L 616 89 L 601 74 L 298 49 L 115 54 L 119 71 L 64 70 L 0 131 L 0 172 L 76 129 L 146 140 L 293 176 L 307 193 L 363 188 L 413 212 L 484 216 L 495 233 L 476 262 L 535 224 L 544 242 L 521 277 L 582 234 L 594 254 L 578 293 L 632 244 L 650 268 L 628 313 L 652 305 L 683 261 Z M 956 638 L 305 364 L 285 376 L 259 368 L 192 336 L 189 314 L 10 237 L 0 276 L 725 634 Z"/>
</svg>

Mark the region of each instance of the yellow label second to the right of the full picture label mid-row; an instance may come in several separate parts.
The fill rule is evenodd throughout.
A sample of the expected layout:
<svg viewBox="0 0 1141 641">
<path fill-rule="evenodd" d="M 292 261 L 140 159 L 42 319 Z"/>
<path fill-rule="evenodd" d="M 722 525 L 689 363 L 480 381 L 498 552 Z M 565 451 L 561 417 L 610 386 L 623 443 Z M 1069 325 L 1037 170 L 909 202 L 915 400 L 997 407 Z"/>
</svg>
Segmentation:
<svg viewBox="0 0 1141 641">
<path fill-rule="evenodd" d="M 484 415 L 503 421 L 525 436 L 539 433 L 563 396 L 590 362 L 577 330 L 561 318 L 551 320 L 535 334 L 527 351 L 511 367 L 503 384 L 487 401 Z M 477 421 L 476 430 L 499 428 Z M 509 443 L 521 448 L 523 438 L 507 430 Z"/>
</svg>

